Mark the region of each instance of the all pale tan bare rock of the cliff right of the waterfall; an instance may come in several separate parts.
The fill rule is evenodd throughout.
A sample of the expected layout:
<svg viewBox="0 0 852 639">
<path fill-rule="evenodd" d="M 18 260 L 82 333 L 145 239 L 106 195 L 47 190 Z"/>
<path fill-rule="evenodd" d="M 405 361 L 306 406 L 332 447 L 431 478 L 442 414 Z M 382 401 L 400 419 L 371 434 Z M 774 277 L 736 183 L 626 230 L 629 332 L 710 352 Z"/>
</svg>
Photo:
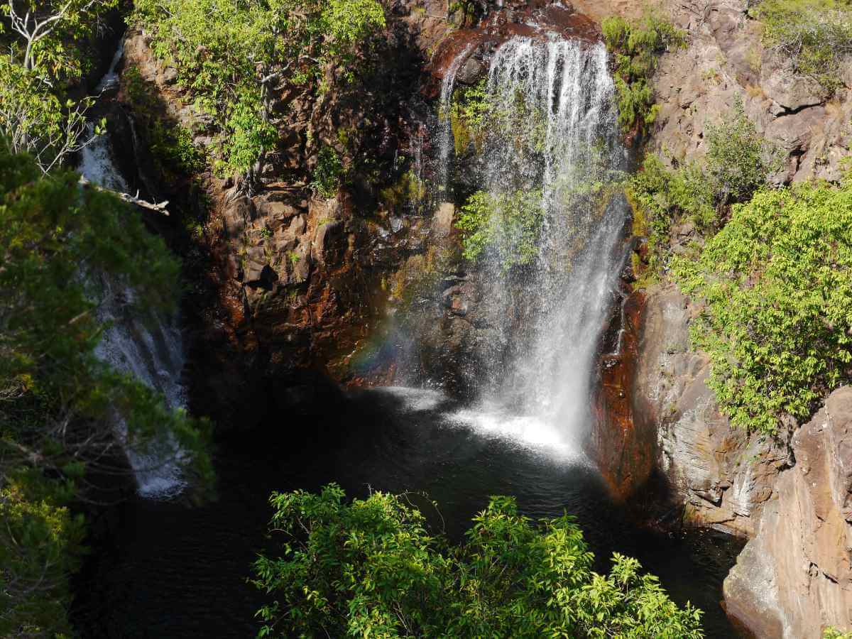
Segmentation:
<svg viewBox="0 0 852 639">
<path fill-rule="evenodd" d="M 705 153 L 704 131 L 739 95 L 757 130 L 783 152 L 776 183 L 837 180 L 852 140 L 849 65 L 827 100 L 790 61 L 765 49 L 747 3 L 667 3 L 688 48 L 666 54 L 654 78 L 659 118 L 648 147 L 683 164 Z M 672 229 L 671 250 L 696 238 Z M 657 467 L 684 518 L 751 538 L 725 582 L 728 612 L 758 637 L 818 637 L 852 626 L 849 589 L 852 464 L 849 389 L 814 419 L 788 423 L 781 440 L 731 429 L 705 380 L 708 360 L 689 348 L 699 309 L 671 285 L 647 294 L 636 364 L 636 428 L 654 432 Z"/>
</svg>

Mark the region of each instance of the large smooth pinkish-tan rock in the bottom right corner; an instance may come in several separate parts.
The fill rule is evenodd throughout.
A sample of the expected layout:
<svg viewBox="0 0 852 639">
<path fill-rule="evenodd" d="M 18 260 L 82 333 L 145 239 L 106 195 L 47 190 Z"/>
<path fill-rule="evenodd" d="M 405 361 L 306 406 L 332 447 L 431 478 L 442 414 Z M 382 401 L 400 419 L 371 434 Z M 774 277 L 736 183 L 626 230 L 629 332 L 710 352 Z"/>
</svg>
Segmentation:
<svg viewBox="0 0 852 639">
<path fill-rule="evenodd" d="M 852 625 L 852 388 L 828 397 L 792 450 L 725 602 L 758 637 L 818 639 Z"/>
</svg>

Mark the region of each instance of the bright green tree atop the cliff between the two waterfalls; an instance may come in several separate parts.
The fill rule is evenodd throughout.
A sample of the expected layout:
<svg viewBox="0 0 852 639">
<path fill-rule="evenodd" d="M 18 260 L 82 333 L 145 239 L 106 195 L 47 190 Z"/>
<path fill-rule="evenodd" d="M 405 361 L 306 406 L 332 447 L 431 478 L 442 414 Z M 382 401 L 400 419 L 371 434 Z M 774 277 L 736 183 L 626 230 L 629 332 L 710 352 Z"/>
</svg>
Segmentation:
<svg viewBox="0 0 852 639">
<path fill-rule="evenodd" d="M 351 81 L 360 44 L 385 26 L 377 0 L 140 0 L 131 20 L 214 118 L 221 174 L 250 172 L 273 146 L 272 86 L 316 82 L 327 66 Z"/>
</svg>

